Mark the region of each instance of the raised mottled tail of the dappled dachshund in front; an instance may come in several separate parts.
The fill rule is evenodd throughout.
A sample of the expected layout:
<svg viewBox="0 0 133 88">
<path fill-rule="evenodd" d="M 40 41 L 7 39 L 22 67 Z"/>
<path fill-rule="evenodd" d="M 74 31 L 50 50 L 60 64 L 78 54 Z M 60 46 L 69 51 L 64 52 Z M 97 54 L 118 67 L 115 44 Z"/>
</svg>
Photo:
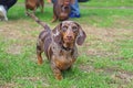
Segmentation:
<svg viewBox="0 0 133 88">
<path fill-rule="evenodd" d="M 50 29 L 47 23 L 40 21 L 33 13 L 27 12 L 27 14 L 28 14 L 30 18 L 32 18 L 37 23 L 39 23 L 41 26 L 43 26 L 44 29 Z"/>
</svg>

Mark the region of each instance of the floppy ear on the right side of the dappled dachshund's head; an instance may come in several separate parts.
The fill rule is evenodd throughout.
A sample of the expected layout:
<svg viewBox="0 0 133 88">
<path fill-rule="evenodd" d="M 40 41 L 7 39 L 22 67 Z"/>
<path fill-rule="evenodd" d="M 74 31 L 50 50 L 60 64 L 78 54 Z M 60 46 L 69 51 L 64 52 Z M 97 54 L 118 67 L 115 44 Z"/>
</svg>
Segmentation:
<svg viewBox="0 0 133 88">
<path fill-rule="evenodd" d="M 75 23 L 75 24 L 78 24 L 78 23 Z M 78 44 L 78 45 L 82 45 L 83 42 L 84 42 L 84 40 L 85 40 L 85 37 L 86 37 L 86 34 L 85 34 L 85 32 L 82 30 L 82 28 L 81 28 L 80 24 L 78 24 L 78 26 L 79 26 L 79 34 L 78 34 L 78 37 L 76 37 L 76 44 Z"/>
</svg>

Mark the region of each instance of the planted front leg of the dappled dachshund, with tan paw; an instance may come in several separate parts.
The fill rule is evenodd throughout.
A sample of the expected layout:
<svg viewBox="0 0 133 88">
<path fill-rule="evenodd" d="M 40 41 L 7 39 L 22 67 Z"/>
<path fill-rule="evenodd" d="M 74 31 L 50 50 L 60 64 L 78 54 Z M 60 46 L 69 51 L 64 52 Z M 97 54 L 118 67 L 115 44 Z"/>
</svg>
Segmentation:
<svg viewBox="0 0 133 88">
<path fill-rule="evenodd" d="M 63 77 L 61 75 L 61 70 L 58 67 L 55 67 L 55 64 L 53 62 L 51 62 L 51 68 L 52 68 L 52 72 L 55 76 L 55 79 L 58 79 L 58 80 L 63 79 Z"/>
</svg>

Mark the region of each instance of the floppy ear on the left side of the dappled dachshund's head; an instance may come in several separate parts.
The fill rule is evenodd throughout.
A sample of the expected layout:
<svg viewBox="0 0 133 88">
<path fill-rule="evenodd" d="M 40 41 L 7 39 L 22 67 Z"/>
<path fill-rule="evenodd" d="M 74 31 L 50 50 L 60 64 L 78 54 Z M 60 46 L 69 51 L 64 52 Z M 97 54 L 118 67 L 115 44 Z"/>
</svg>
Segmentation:
<svg viewBox="0 0 133 88">
<path fill-rule="evenodd" d="M 60 23 L 59 25 L 57 25 L 53 30 L 52 30 L 52 33 L 53 33 L 53 40 L 55 43 L 60 43 L 61 42 L 61 25 L 62 23 Z"/>
</svg>

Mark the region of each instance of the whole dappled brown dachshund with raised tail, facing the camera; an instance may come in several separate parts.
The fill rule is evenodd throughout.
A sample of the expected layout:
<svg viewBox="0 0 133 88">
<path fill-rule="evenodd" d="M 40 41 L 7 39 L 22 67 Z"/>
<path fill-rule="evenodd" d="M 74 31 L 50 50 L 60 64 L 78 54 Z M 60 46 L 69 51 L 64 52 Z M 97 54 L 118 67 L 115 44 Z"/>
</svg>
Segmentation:
<svg viewBox="0 0 133 88">
<path fill-rule="evenodd" d="M 37 42 L 38 64 L 42 64 L 41 54 L 48 57 L 55 79 L 63 78 L 62 70 L 70 69 L 78 58 L 78 45 L 82 45 L 86 34 L 81 25 L 74 21 L 62 21 L 53 30 L 40 21 L 35 15 L 28 13 L 37 23 L 43 26 Z"/>
</svg>

